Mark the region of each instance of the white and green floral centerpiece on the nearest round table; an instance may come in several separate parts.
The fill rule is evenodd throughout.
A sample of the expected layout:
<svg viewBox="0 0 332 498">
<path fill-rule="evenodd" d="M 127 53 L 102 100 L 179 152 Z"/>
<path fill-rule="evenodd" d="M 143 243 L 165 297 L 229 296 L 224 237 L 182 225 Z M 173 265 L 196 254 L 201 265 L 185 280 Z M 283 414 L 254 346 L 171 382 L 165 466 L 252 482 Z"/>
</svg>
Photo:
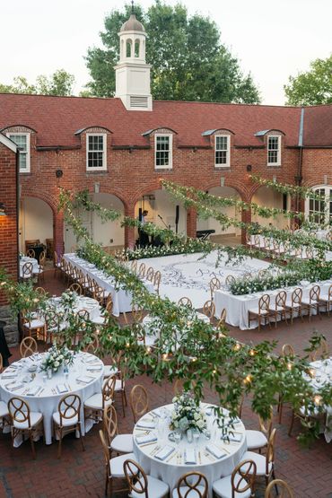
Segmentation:
<svg viewBox="0 0 332 498">
<path fill-rule="evenodd" d="M 170 429 L 186 432 L 188 429 L 203 432 L 206 428 L 205 413 L 197 406 L 189 392 L 172 399 L 174 410 L 171 414 Z"/>
</svg>

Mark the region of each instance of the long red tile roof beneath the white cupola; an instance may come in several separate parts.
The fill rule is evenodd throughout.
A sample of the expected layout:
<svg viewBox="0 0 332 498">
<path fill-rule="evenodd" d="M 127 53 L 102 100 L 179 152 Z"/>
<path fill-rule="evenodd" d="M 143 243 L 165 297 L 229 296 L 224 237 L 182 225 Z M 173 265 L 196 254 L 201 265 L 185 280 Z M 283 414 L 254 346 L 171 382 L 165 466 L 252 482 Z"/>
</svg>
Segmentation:
<svg viewBox="0 0 332 498">
<path fill-rule="evenodd" d="M 235 145 L 259 145 L 259 130 L 279 129 L 286 145 L 297 145 L 301 108 L 154 100 L 153 111 L 127 111 L 119 99 L 0 94 L 0 129 L 25 125 L 38 132 L 39 146 L 79 144 L 74 133 L 106 127 L 114 145 L 146 145 L 142 134 L 156 127 L 178 133 L 179 145 L 206 145 L 208 129 L 232 130 Z M 305 110 L 304 145 L 332 145 L 332 106 Z"/>
</svg>

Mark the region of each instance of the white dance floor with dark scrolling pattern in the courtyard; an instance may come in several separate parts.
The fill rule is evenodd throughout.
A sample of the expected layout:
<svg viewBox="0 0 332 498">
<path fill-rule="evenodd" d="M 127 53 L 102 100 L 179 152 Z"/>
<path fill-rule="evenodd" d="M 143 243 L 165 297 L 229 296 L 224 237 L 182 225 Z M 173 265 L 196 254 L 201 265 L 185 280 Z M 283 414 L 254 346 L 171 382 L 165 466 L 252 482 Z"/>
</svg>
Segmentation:
<svg viewBox="0 0 332 498">
<path fill-rule="evenodd" d="M 227 275 L 236 278 L 245 273 L 256 274 L 262 268 L 267 268 L 269 263 L 255 258 L 244 258 L 243 261 L 233 266 L 226 265 L 227 257 L 217 262 L 217 252 L 207 256 L 202 253 L 180 254 L 164 256 L 162 258 L 140 259 L 146 267 L 153 266 L 154 270 L 162 273 L 160 294 L 171 301 L 187 296 L 195 308 L 202 308 L 206 300 L 210 299 L 210 280 L 216 276 L 224 284 Z"/>
</svg>

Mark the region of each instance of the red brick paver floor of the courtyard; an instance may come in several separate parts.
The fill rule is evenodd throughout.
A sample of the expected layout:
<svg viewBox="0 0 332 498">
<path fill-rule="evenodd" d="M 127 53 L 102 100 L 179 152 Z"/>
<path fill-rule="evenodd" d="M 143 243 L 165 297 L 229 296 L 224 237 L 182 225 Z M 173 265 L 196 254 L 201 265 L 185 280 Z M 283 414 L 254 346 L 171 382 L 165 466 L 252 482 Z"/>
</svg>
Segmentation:
<svg viewBox="0 0 332 498">
<path fill-rule="evenodd" d="M 53 278 L 53 272 L 47 272 L 44 284 L 50 294 L 59 293 L 64 289 L 60 280 Z M 301 352 L 307 344 L 312 331 L 317 329 L 324 333 L 332 345 L 332 318 L 323 316 L 313 318 L 311 323 L 304 319 L 295 319 L 293 327 L 278 325 L 278 327 L 262 328 L 252 331 L 240 331 L 231 328 L 230 334 L 243 342 L 258 342 L 263 339 L 279 341 L 277 349 L 284 342 L 291 343 L 297 352 Z M 13 360 L 18 358 L 17 348 L 13 348 Z M 153 385 L 146 376 L 136 377 L 127 381 L 127 392 L 133 385 L 142 383 L 148 389 L 151 408 L 170 402 L 172 387 L 168 382 L 161 386 Z M 206 391 L 205 399 L 214 401 L 214 396 Z M 118 408 L 119 432 L 131 432 L 134 426 L 133 418 L 127 407 L 126 417 L 121 415 L 120 399 L 116 400 Z M 247 428 L 258 428 L 258 417 L 249 407 L 249 400 L 244 404 L 242 420 Z M 288 437 L 290 411 L 285 409 L 283 424 L 277 424 L 275 474 L 286 480 L 292 486 L 297 498 L 332 498 L 332 442 L 327 444 L 323 436 L 315 441 L 310 448 L 302 448 L 296 440 L 300 425 L 295 424 L 293 437 Z M 98 434 L 99 427 L 95 425 L 84 438 L 86 450 L 83 452 L 79 441 L 68 434 L 63 444 L 62 458 L 57 459 L 57 443 L 46 446 L 43 441 L 36 443 L 37 459 L 31 459 L 29 442 L 20 448 L 13 449 L 9 434 L 0 433 L 0 498 L 52 498 L 52 497 L 101 497 L 104 495 L 104 462 Z M 123 498 L 127 493 L 117 491 L 123 482 L 117 482 L 113 496 Z M 257 496 L 264 496 L 263 486 L 258 489 Z"/>
</svg>

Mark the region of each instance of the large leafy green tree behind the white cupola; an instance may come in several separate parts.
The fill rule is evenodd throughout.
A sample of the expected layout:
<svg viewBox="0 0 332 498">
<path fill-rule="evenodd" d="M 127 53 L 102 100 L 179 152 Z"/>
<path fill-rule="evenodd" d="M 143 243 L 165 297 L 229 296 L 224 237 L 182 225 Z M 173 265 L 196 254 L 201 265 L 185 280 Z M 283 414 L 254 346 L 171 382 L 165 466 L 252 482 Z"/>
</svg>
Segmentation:
<svg viewBox="0 0 332 498">
<path fill-rule="evenodd" d="M 89 48 L 86 62 L 92 82 L 87 87 L 98 97 L 115 92 L 114 66 L 118 63 L 118 31 L 131 7 L 113 10 L 100 32 L 104 48 Z M 259 92 L 250 74 L 220 42 L 220 31 L 208 17 L 189 17 L 182 4 L 160 0 L 146 12 L 135 5 L 135 15 L 148 33 L 146 61 L 152 65 L 152 93 L 158 100 L 204 100 L 258 103 Z"/>
</svg>

